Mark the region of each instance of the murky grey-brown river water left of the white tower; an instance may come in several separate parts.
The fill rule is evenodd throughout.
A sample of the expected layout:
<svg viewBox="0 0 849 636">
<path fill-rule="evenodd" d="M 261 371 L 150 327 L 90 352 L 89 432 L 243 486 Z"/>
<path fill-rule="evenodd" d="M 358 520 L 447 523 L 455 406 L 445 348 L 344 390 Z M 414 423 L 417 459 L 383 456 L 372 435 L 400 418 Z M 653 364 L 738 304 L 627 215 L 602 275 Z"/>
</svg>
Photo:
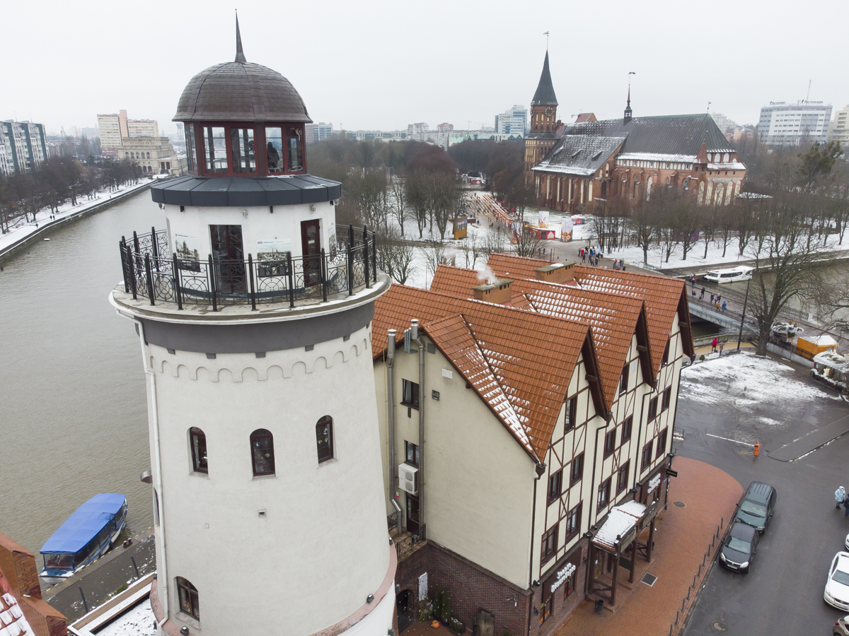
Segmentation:
<svg viewBox="0 0 849 636">
<path fill-rule="evenodd" d="M 164 215 L 141 192 L 0 272 L 0 532 L 36 555 L 94 494 L 127 495 L 128 534 L 153 523 L 140 345 L 107 295 L 121 235 L 154 225 Z"/>
</svg>

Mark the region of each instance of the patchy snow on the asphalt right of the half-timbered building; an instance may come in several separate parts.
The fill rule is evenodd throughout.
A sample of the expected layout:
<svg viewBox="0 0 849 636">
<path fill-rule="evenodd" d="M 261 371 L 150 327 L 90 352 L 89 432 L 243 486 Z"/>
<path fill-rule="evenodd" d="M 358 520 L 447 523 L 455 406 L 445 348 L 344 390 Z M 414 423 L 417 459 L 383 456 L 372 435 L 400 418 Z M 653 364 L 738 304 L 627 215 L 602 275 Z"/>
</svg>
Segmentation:
<svg viewBox="0 0 849 636">
<path fill-rule="evenodd" d="M 772 358 L 755 354 L 728 355 L 684 367 L 681 371 L 681 392 L 686 393 L 689 400 L 705 404 L 708 409 L 731 398 L 735 408 L 773 426 L 787 422 L 756 416 L 759 404 L 780 406 L 786 402 L 798 410 L 800 402 L 841 399 L 833 391 L 801 382 L 795 374 L 790 366 Z"/>
</svg>

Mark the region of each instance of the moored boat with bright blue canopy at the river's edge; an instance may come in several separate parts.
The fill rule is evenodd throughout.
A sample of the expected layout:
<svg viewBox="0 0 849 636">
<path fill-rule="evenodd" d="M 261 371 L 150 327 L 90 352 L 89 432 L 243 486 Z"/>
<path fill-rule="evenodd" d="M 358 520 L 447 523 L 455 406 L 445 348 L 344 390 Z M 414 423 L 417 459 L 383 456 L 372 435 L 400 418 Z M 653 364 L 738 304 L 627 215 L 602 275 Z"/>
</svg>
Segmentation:
<svg viewBox="0 0 849 636">
<path fill-rule="evenodd" d="M 122 494 L 96 494 L 76 509 L 42 547 L 48 583 L 59 583 L 108 552 L 127 526 L 127 498 Z"/>
</svg>

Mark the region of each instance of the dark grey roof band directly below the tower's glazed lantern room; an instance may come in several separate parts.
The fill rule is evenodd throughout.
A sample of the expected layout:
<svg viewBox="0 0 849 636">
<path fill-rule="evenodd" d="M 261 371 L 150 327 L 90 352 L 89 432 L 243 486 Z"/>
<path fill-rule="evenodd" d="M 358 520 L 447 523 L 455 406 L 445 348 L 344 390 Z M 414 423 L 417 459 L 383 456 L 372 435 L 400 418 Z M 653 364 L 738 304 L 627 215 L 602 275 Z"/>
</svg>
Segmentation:
<svg viewBox="0 0 849 636">
<path fill-rule="evenodd" d="M 183 176 L 150 187 L 157 204 L 205 208 L 318 204 L 341 198 L 342 184 L 312 175 Z"/>
</svg>

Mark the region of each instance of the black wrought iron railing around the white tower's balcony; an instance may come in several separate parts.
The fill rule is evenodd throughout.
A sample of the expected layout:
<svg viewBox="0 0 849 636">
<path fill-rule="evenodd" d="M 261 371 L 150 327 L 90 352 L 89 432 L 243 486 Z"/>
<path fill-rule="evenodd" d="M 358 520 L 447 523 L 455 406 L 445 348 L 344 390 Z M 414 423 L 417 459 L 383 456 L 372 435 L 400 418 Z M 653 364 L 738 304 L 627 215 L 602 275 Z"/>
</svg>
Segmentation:
<svg viewBox="0 0 849 636">
<path fill-rule="evenodd" d="M 124 291 L 132 298 L 177 304 L 206 305 L 213 311 L 229 305 L 285 303 L 351 296 L 377 282 L 375 233 L 368 228 L 336 226 L 329 253 L 279 259 L 181 259 L 171 252 L 167 232 L 121 237 Z"/>
</svg>

